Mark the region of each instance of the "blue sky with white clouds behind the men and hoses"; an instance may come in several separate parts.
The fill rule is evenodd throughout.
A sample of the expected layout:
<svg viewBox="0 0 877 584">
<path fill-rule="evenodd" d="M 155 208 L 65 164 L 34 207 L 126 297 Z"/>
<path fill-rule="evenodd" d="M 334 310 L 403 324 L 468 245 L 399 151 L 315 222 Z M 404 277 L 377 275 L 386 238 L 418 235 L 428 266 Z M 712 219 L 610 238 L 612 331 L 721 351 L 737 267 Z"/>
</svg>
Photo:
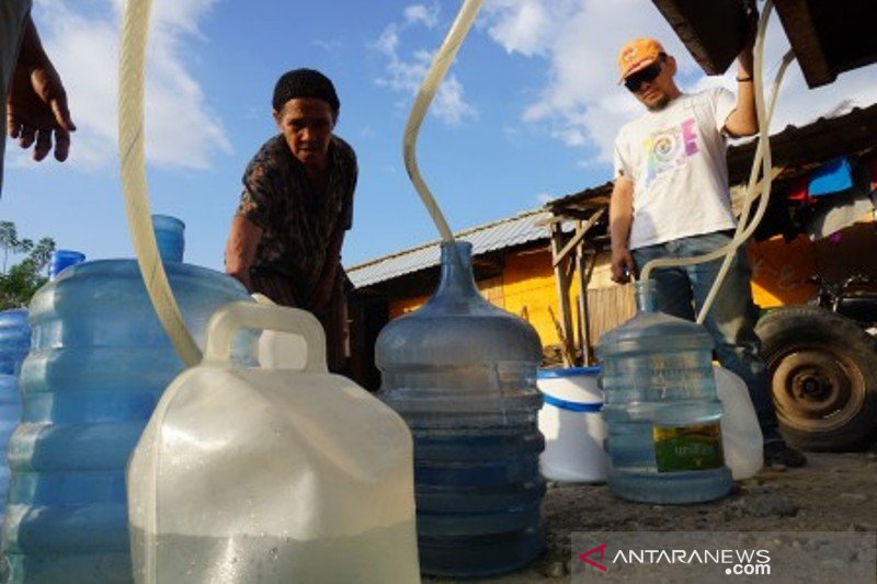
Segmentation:
<svg viewBox="0 0 877 584">
<path fill-rule="evenodd" d="M 116 149 L 121 0 L 34 0 L 79 130 L 70 159 L 39 164 L 9 144 L 0 219 L 90 259 L 130 256 Z M 221 270 L 240 176 L 274 131 L 271 92 L 296 67 L 331 77 L 335 131 L 360 160 L 350 266 L 437 237 L 405 172 L 413 95 L 458 0 L 153 0 L 147 73 L 151 208 L 186 222 L 186 261 Z M 657 36 L 686 91 L 705 78 L 650 0 L 485 0 L 424 122 L 426 183 L 455 230 L 512 216 L 610 179 L 614 134 L 638 113 L 615 55 Z M 774 19 L 765 70 L 787 41 Z M 787 75 L 774 130 L 877 101 L 874 66 L 808 90 Z"/>
</svg>

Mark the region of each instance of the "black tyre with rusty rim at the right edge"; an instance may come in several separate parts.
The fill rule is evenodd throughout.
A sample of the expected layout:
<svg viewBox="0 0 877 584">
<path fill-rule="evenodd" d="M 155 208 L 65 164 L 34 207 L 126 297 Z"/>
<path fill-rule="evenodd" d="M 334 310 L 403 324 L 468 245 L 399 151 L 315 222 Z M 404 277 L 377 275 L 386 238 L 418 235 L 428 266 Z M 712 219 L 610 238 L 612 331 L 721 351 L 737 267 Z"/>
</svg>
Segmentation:
<svg viewBox="0 0 877 584">
<path fill-rule="evenodd" d="M 784 307 L 756 327 L 786 440 L 804 450 L 866 448 L 877 436 L 877 344 L 815 306 Z"/>
</svg>

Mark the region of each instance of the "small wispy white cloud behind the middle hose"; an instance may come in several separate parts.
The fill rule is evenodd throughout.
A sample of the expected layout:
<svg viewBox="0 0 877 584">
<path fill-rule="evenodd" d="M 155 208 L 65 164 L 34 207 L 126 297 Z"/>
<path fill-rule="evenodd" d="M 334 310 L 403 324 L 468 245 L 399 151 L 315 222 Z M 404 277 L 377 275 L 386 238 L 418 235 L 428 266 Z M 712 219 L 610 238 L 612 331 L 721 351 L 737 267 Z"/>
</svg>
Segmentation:
<svg viewBox="0 0 877 584">
<path fill-rule="evenodd" d="M 405 22 L 388 24 L 380 36 L 372 45 L 386 59 L 386 72 L 376 80 L 378 85 L 386 87 L 405 96 L 399 106 L 408 108 L 420 89 L 423 79 L 432 65 L 433 53 L 418 49 L 408 58 L 401 56 L 401 36 L 411 26 L 424 25 L 435 27 L 438 19 L 438 4 L 412 4 L 405 9 Z M 441 39 L 436 41 L 436 46 Z M 465 99 L 463 83 L 454 73 L 445 76 L 435 93 L 430 113 L 449 125 L 457 125 L 466 118 L 477 117 L 478 111 Z"/>
</svg>

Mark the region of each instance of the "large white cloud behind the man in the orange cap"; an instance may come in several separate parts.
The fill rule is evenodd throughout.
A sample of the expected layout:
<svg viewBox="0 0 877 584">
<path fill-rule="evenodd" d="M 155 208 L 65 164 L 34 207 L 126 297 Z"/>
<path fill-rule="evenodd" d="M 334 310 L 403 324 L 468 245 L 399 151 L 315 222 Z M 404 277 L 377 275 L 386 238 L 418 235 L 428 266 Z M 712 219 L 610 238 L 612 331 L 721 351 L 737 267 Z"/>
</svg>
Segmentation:
<svg viewBox="0 0 877 584">
<path fill-rule="evenodd" d="M 533 126 L 547 126 L 556 139 L 595 152 L 583 161 L 608 162 L 615 134 L 641 106 L 617 84 L 615 56 L 636 36 L 660 38 L 680 65 L 677 81 L 685 91 L 724 84 L 736 90 L 736 66 L 721 77 L 706 77 L 675 32 L 651 2 L 642 0 L 487 0 L 487 32 L 510 54 L 547 65 L 537 99 L 521 113 Z M 765 84 L 788 41 L 776 14 L 768 25 Z M 766 90 L 765 90 L 766 91 Z M 839 106 L 866 106 L 877 101 L 874 67 L 842 73 L 825 88 L 809 90 L 797 65 L 789 68 L 777 101 L 772 131 L 802 125 Z"/>
</svg>

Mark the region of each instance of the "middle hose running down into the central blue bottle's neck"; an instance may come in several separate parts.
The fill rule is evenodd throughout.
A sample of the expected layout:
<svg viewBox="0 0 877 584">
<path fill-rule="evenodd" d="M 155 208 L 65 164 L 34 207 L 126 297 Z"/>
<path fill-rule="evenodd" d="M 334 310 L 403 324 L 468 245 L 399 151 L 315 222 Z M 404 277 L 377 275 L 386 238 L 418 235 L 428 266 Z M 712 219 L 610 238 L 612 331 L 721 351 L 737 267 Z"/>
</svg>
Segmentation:
<svg viewBox="0 0 877 584">
<path fill-rule="evenodd" d="M 444 79 L 447 70 L 451 68 L 451 64 L 454 61 L 454 57 L 457 55 L 463 39 L 466 38 L 475 21 L 475 16 L 481 8 L 481 1 L 482 0 L 466 0 L 463 7 L 460 7 L 454 24 L 451 26 L 444 43 L 442 43 L 442 46 L 438 48 L 438 53 L 435 55 L 435 59 L 432 61 L 430 70 L 426 72 L 426 77 L 420 85 L 418 95 L 414 98 L 414 105 L 411 106 L 411 114 L 408 116 L 408 124 L 406 124 L 405 136 L 402 138 L 402 158 L 405 159 L 405 168 L 408 171 L 408 176 L 414 184 L 414 190 L 417 190 L 421 201 L 423 201 L 423 204 L 426 206 L 430 217 L 435 224 L 435 227 L 438 228 L 442 240 L 445 242 L 453 242 L 454 234 L 451 232 L 451 228 L 447 226 L 447 221 L 442 214 L 442 209 L 438 208 L 435 197 L 432 196 L 430 188 L 420 175 L 415 146 L 418 134 L 420 133 L 420 125 L 423 123 L 426 110 L 430 107 L 430 103 L 432 103 L 435 92 L 442 83 L 442 79 Z"/>
</svg>

